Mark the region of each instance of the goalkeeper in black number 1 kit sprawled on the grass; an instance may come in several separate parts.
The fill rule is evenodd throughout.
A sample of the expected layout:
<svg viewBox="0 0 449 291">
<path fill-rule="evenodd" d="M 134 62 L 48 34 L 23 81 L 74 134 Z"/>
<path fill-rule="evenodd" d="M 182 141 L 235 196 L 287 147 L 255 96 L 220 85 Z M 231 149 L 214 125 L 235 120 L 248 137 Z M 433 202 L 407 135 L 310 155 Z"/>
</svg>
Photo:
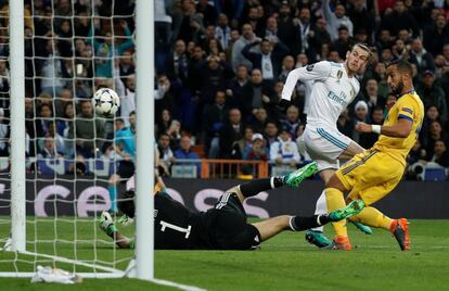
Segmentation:
<svg viewBox="0 0 449 291">
<path fill-rule="evenodd" d="M 283 230 L 300 231 L 337 222 L 359 213 L 364 204 L 356 200 L 345 208 L 330 214 L 313 216 L 281 215 L 262 222 L 247 224 L 243 201 L 261 191 L 284 185 L 298 187 L 317 172 L 311 163 L 286 176 L 253 180 L 235 186 L 224 192 L 215 206 L 207 212 L 193 212 L 168 194 L 157 192 L 154 197 L 154 248 L 168 250 L 253 250 L 260 242 Z M 134 215 L 133 191 L 118 205 L 130 217 Z M 123 249 L 133 248 L 133 241 L 123 236 L 111 215 L 104 212 L 100 228 Z"/>
</svg>

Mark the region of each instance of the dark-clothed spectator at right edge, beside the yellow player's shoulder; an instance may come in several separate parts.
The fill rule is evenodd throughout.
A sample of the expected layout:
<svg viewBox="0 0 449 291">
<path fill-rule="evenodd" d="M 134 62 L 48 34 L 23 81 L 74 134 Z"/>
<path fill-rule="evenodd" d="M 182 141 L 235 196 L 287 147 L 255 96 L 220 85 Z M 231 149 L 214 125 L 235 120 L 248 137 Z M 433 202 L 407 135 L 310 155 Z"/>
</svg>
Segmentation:
<svg viewBox="0 0 449 291">
<path fill-rule="evenodd" d="M 448 116 L 446 96 L 441 87 L 435 84 L 434 73 L 431 71 L 424 72 L 423 81 L 418 86 L 416 92 L 425 107 L 435 104 L 438 109 L 439 116 L 442 121 L 446 121 Z"/>
</svg>

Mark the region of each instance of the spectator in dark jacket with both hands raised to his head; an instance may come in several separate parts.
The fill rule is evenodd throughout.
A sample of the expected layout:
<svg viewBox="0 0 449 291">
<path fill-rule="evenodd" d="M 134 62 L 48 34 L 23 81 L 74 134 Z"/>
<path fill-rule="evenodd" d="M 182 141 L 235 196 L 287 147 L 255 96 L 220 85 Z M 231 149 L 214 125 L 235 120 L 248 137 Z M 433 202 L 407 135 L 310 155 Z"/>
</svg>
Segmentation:
<svg viewBox="0 0 449 291">
<path fill-rule="evenodd" d="M 251 51 L 256 45 L 260 45 L 260 53 Z M 273 81 L 281 73 L 280 64 L 287 51 L 288 49 L 281 42 L 273 43 L 264 39 L 260 42 L 254 41 L 246 45 L 242 54 L 252 62 L 253 68 L 261 71 L 264 80 Z"/>
</svg>

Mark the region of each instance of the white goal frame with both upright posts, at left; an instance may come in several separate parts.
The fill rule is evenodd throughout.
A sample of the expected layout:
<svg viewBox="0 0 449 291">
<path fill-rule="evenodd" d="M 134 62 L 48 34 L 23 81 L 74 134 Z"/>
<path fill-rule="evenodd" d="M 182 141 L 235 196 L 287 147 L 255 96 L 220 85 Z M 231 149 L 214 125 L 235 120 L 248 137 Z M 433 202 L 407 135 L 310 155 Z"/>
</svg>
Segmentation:
<svg viewBox="0 0 449 291">
<path fill-rule="evenodd" d="M 118 0 L 115 0 L 118 1 Z M 114 7 L 114 0 L 112 1 Z M 90 1 L 91 7 L 93 8 L 94 1 Z M 53 7 L 53 1 L 52 1 Z M 2 242 L 7 241 L 8 248 L 2 251 L 11 252 L 12 258 L 11 263 L 14 266 L 11 271 L 4 271 L 0 269 L 0 277 L 30 277 L 33 271 L 25 270 L 22 271 L 20 264 L 24 261 L 27 264 L 36 267 L 37 262 L 47 262 L 54 265 L 55 262 L 61 262 L 68 265 L 77 265 L 85 269 L 91 269 L 92 271 L 78 273 L 81 277 L 87 278 L 106 278 L 106 277 L 137 277 L 144 280 L 157 281 L 162 284 L 174 286 L 172 282 L 156 280 L 154 279 L 154 240 L 153 240 L 153 198 L 152 189 L 154 186 L 154 1 L 147 0 L 137 0 L 136 1 L 136 54 L 137 54 L 137 135 L 136 135 L 136 146 L 137 146 L 137 157 L 136 159 L 136 181 L 137 181 L 137 208 L 136 208 L 136 250 L 134 250 L 134 260 L 130 261 L 129 267 L 131 269 L 119 269 L 116 267 L 119 263 L 124 262 L 124 258 L 115 258 L 116 246 L 111 242 L 111 248 L 113 249 L 114 262 L 107 264 L 97 257 L 98 250 L 95 250 L 93 261 L 77 258 L 75 260 L 66 258 L 64 255 L 56 255 L 57 253 L 57 243 L 60 241 L 64 243 L 75 243 L 74 250 L 76 251 L 76 237 L 74 235 L 75 242 L 70 242 L 64 238 L 57 238 L 56 232 L 56 222 L 52 223 L 51 220 L 43 220 L 43 223 L 49 223 L 49 225 L 54 227 L 55 238 L 53 243 L 54 254 L 39 253 L 36 251 L 39 245 L 39 239 L 36 239 L 33 236 L 26 237 L 26 226 L 27 224 L 31 225 L 31 228 L 35 228 L 35 232 L 38 232 L 37 225 L 38 223 L 34 222 L 34 218 L 28 218 L 26 213 L 26 128 L 25 128 L 25 33 L 24 33 L 24 17 L 25 9 L 23 0 L 10 0 L 10 10 L 9 10 L 9 39 L 10 39 L 10 97 L 11 97 L 11 180 L 10 180 L 10 190 L 11 190 L 11 237 L 8 239 L 2 237 L 0 238 Z M 52 8 L 54 10 L 54 8 Z M 72 11 L 74 11 L 74 4 L 72 3 Z M 92 9 L 92 14 L 90 17 L 94 17 L 94 12 Z M 29 16 L 28 16 L 29 17 Z M 30 18 L 35 17 L 31 15 Z M 48 16 L 44 16 L 48 17 Z M 53 15 L 52 15 L 53 17 Z M 70 16 L 64 16 L 65 18 L 77 17 L 75 14 Z M 64 18 L 61 17 L 61 18 Z M 86 16 L 89 17 L 89 16 Z M 104 16 L 102 16 L 105 18 Z M 113 16 L 112 16 L 113 17 Z M 112 21 L 111 21 L 112 22 Z M 93 22 L 92 22 L 93 23 Z M 72 25 L 73 26 L 73 25 Z M 51 28 L 54 29 L 54 28 Z M 51 38 L 50 36 L 48 38 Z M 57 38 L 57 37 L 55 37 Z M 72 43 L 75 43 L 75 37 L 72 37 Z M 73 45 L 74 46 L 74 45 Z M 114 45 L 112 46 L 114 49 Z M 53 45 L 54 49 L 54 45 Z M 35 58 L 35 56 L 33 56 Z M 54 63 L 55 56 L 52 56 Z M 61 58 L 64 59 L 64 58 Z M 69 58 L 65 58 L 69 59 Z M 104 58 L 105 59 L 105 58 Z M 115 60 L 113 60 L 115 61 Z M 36 96 L 34 96 L 36 97 Z M 52 96 L 56 99 L 56 96 Z M 149 98 L 150 97 L 150 98 Z M 76 175 L 75 175 L 76 176 Z M 55 178 L 57 179 L 57 178 Z M 104 179 L 103 179 L 104 180 Z M 86 180 L 85 180 L 86 181 Z M 104 180 L 107 181 L 107 180 Z M 37 181 L 35 181 L 37 184 Z M 35 187 L 36 188 L 36 187 Z M 74 191 L 76 191 L 76 186 L 74 186 Z M 75 197 L 76 198 L 76 197 Z M 29 200 L 29 199 L 28 199 Z M 57 200 L 57 199 L 56 199 Z M 56 201 L 55 200 L 55 201 Z M 97 200 L 95 200 L 97 201 Z M 74 202 L 75 203 L 75 202 Z M 56 202 L 54 202 L 54 207 L 56 208 Z M 55 215 L 57 211 L 55 211 Z M 30 214 L 28 214 L 30 215 Z M 75 217 L 77 212 L 75 213 Z M 54 219 L 56 219 L 55 217 Z M 97 215 L 95 215 L 97 218 Z M 60 219 L 60 218 L 57 218 Z M 98 225 L 97 222 L 91 220 L 91 225 Z M 72 224 L 68 218 L 61 218 L 62 222 Z M 82 222 L 84 223 L 84 222 Z M 75 226 L 76 231 L 77 218 L 73 225 Z M 100 230 L 93 230 L 94 236 L 101 237 L 99 240 L 104 241 L 104 233 Z M 97 239 L 97 237 L 95 237 Z M 35 241 L 34 241 L 35 240 Z M 35 250 L 28 250 L 27 244 L 34 243 Z M 80 239 L 80 243 L 85 243 Z M 93 242 L 95 245 L 97 242 Z M 0 245 L 0 248 L 3 245 Z M 93 246 L 95 248 L 95 246 Z M 18 258 L 21 256 L 21 258 Z M 26 258 L 23 258 L 26 257 Z M 1 263 L 8 262 L 8 260 L 0 260 Z M 118 263 L 117 263 L 118 262 Z M 100 263 L 100 264 L 98 264 Z M 134 264 L 136 263 L 136 264 Z M 132 269 L 133 268 L 133 269 Z M 183 289 L 182 286 L 177 286 Z M 190 287 L 185 287 L 190 288 Z"/>
</svg>

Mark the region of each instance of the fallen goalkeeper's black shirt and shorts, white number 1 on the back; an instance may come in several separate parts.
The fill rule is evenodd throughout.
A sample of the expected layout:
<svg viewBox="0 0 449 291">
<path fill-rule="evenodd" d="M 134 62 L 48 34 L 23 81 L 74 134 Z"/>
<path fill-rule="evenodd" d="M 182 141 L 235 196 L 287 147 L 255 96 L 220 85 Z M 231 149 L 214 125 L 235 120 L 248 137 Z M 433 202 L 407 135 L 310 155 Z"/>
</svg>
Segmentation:
<svg viewBox="0 0 449 291">
<path fill-rule="evenodd" d="M 234 193 L 224 193 L 215 207 L 193 212 L 168 195 L 154 197 L 155 249 L 251 250 L 260 244 L 256 227 Z"/>
</svg>

